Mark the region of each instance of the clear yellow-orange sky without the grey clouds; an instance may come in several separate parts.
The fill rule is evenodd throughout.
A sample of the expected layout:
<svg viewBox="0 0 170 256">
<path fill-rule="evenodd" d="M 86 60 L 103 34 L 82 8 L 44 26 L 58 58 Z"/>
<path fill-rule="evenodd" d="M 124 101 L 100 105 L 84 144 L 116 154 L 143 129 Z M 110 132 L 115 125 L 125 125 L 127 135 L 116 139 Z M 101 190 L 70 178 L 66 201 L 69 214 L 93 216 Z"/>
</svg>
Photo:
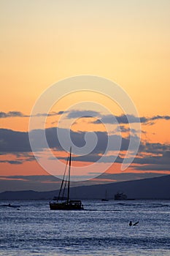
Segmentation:
<svg viewBox="0 0 170 256">
<path fill-rule="evenodd" d="M 122 86 L 140 117 L 170 115 L 170 1 L 1 1 L 0 12 L 0 112 L 29 116 L 36 99 L 53 83 L 75 75 L 96 75 Z M 111 99 L 89 92 L 69 94 L 51 111 L 87 99 L 95 99 L 116 116 L 123 114 Z M 46 127 L 56 126 L 58 117 L 48 117 Z M 28 132 L 28 117 L 0 120 L 1 128 Z M 165 144 L 168 151 L 169 124 L 164 118 L 142 124 L 142 141 Z M 102 131 L 104 127 L 84 119 L 73 129 Z M 35 161 L 0 165 L 1 176 L 45 173 Z"/>
</svg>

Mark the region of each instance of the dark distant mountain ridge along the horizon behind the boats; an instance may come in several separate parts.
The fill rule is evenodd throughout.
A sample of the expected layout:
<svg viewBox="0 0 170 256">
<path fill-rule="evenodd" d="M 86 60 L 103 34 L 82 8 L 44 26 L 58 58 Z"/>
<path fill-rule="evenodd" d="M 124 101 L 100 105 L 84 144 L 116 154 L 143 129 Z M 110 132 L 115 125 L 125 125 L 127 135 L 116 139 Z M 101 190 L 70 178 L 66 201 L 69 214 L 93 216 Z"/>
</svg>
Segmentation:
<svg viewBox="0 0 170 256">
<path fill-rule="evenodd" d="M 72 199 L 101 199 L 106 189 L 109 199 L 113 199 L 117 192 L 124 192 L 128 199 L 170 199 L 170 176 L 71 187 L 70 194 Z M 6 191 L 0 193 L 0 200 L 53 200 L 55 195 L 58 195 L 58 190 L 50 192 Z"/>
</svg>

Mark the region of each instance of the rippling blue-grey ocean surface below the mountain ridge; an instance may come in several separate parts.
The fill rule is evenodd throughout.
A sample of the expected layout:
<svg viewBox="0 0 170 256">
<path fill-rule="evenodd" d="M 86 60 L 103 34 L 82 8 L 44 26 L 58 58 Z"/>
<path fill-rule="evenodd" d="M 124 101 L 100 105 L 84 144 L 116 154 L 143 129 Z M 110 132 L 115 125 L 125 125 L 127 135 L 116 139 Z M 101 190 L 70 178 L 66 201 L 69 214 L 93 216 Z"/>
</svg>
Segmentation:
<svg viewBox="0 0 170 256">
<path fill-rule="evenodd" d="M 170 255 L 170 200 L 82 200 L 82 211 L 7 203 L 20 210 L 0 207 L 0 255 Z"/>
</svg>

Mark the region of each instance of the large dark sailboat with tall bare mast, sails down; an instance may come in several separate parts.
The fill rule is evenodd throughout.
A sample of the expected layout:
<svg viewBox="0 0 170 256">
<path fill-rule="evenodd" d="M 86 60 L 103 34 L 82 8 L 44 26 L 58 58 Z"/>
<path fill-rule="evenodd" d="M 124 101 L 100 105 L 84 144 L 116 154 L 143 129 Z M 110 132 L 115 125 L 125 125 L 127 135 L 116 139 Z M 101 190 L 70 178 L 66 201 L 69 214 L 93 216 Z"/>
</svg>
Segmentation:
<svg viewBox="0 0 170 256">
<path fill-rule="evenodd" d="M 50 202 L 50 210 L 83 210 L 84 209 L 81 200 L 70 200 L 70 197 L 69 197 L 70 170 L 71 170 L 71 162 L 72 162 L 71 158 L 72 158 L 72 147 L 70 148 L 69 157 L 67 158 L 66 168 L 63 173 L 63 180 L 61 182 L 61 188 L 58 194 L 57 201 L 52 203 Z M 66 176 L 66 169 L 67 169 L 68 162 L 69 162 L 69 173 L 68 173 L 68 181 L 66 181 L 65 176 Z M 67 197 L 66 197 L 66 200 L 63 202 L 63 195 L 66 189 L 66 184 L 68 184 Z M 63 195 L 61 196 L 62 189 L 63 189 Z"/>
</svg>

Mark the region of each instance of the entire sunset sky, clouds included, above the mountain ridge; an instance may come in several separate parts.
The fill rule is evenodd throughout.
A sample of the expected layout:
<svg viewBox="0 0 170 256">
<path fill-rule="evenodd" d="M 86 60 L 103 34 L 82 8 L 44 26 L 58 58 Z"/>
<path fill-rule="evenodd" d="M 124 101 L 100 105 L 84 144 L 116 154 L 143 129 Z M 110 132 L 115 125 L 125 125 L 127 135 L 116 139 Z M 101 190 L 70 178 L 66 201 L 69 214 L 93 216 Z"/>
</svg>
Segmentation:
<svg viewBox="0 0 170 256">
<path fill-rule="evenodd" d="M 107 138 L 120 138 L 121 133 L 120 154 L 91 184 L 170 174 L 169 0 L 2 0 L 0 12 L 0 191 L 53 190 L 58 186 L 58 179 L 44 170 L 31 152 L 28 124 L 36 100 L 49 86 L 78 75 L 112 80 L 131 97 L 141 121 L 139 152 L 122 171 L 129 143 L 127 113 L 109 97 L 80 91 L 51 106 L 45 129 L 53 154 L 61 161 L 68 154 L 53 138 L 64 115 L 60 129 L 71 129 L 76 146 L 84 145 L 85 132 L 96 132 L 98 138 L 91 154 L 73 155 L 74 166 L 92 165 L 103 154 Z M 119 126 L 109 121 L 106 109 Z M 135 118 L 131 117 L 131 124 Z M 38 127 L 34 132 L 41 138 Z M 112 146 L 93 172 L 111 162 L 115 151 Z M 37 154 L 43 159 L 46 149 L 42 146 Z M 62 173 L 60 170 L 58 175 Z"/>
</svg>

